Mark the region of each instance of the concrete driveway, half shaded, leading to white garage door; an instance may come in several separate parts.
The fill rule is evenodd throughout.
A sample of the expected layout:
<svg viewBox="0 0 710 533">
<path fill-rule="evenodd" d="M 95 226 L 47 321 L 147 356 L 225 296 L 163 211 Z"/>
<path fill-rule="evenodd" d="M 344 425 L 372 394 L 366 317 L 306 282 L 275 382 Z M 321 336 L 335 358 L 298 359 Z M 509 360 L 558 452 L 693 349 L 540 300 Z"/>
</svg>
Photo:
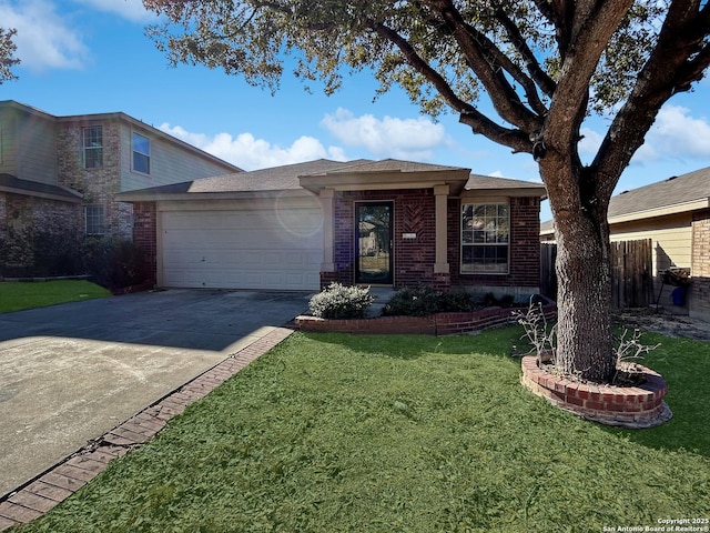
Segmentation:
<svg viewBox="0 0 710 533">
<path fill-rule="evenodd" d="M 170 290 L 0 314 L 0 496 L 307 308 Z"/>
</svg>

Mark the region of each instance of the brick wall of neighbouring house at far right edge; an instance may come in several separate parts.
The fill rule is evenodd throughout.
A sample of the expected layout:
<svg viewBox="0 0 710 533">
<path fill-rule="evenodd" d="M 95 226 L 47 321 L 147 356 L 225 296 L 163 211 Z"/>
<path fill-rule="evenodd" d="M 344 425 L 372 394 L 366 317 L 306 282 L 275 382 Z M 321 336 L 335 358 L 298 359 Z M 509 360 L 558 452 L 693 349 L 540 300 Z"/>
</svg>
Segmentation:
<svg viewBox="0 0 710 533">
<path fill-rule="evenodd" d="M 693 215 L 690 273 L 690 314 L 710 320 L 710 210 Z"/>
</svg>

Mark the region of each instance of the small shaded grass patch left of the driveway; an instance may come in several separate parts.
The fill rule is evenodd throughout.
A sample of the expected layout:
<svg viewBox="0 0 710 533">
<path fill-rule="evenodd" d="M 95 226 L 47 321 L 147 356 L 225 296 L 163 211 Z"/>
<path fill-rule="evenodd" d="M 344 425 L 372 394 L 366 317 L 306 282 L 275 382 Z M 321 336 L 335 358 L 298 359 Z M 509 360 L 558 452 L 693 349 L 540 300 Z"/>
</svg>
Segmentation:
<svg viewBox="0 0 710 533">
<path fill-rule="evenodd" d="M 106 289 L 84 280 L 4 282 L 0 283 L 0 313 L 110 295 Z"/>
</svg>

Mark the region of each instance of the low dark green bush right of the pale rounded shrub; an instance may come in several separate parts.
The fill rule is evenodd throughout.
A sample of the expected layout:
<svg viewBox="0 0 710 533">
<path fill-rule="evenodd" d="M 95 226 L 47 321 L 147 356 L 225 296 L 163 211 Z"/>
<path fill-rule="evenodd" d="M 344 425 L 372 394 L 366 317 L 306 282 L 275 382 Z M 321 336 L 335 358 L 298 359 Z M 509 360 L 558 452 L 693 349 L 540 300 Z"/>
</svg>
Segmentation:
<svg viewBox="0 0 710 533">
<path fill-rule="evenodd" d="M 474 298 L 464 291 L 437 291 L 429 285 L 399 289 L 385 304 L 385 316 L 426 316 L 434 313 L 470 311 L 476 308 Z"/>
</svg>

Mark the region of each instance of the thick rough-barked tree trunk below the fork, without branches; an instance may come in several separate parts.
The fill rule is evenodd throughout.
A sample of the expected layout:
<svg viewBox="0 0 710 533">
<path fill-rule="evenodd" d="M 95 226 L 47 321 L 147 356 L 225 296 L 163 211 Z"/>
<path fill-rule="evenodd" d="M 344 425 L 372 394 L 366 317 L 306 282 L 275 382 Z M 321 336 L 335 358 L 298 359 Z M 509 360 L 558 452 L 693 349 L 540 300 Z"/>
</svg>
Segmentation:
<svg viewBox="0 0 710 533">
<path fill-rule="evenodd" d="M 540 164 L 544 179 L 546 167 Z M 560 167 L 555 167 L 559 172 Z M 608 177 L 590 175 L 588 169 L 574 164 L 562 168 L 580 178 L 560 180 L 559 174 L 548 174 L 545 180 L 557 238 L 556 362 L 565 373 L 609 383 L 616 369 L 607 223 L 610 194 L 599 189 Z"/>
</svg>

